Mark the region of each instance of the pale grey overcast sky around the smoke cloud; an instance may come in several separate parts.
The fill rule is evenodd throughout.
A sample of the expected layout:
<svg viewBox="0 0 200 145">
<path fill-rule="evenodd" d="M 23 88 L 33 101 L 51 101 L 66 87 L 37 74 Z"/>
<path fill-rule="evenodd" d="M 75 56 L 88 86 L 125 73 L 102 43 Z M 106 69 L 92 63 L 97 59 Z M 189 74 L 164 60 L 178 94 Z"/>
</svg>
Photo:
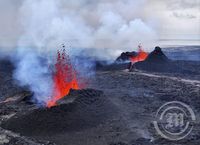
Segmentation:
<svg viewBox="0 0 200 145">
<path fill-rule="evenodd" d="M 22 8 L 26 0 L 0 0 L 0 46 L 15 47 L 24 33 Z M 39 0 L 35 0 L 39 1 Z M 61 0 L 62 1 L 62 0 Z M 62 1 L 63 15 L 70 9 L 77 9 L 90 25 L 96 27 L 97 16 L 88 13 L 89 9 L 106 11 L 117 9 L 116 13 L 124 20 L 140 18 L 151 25 L 158 39 L 200 40 L 200 0 L 135 0 L 130 5 L 121 5 L 120 0 L 68 0 Z M 133 0 L 134 1 L 134 0 Z M 106 5 L 107 2 L 115 7 Z M 115 4 L 118 2 L 117 4 Z M 126 2 L 121 0 L 121 2 Z M 98 3 L 98 4 L 96 4 Z M 137 4 L 139 3 L 139 4 Z M 140 4 L 141 3 L 141 4 Z M 101 4 L 101 5 L 100 5 Z M 105 5 L 105 7 L 104 7 Z M 134 5 L 136 7 L 134 7 Z M 102 6 L 103 9 L 99 9 Z M 24 9 L 24 8 L 23 8 Z M 47 11 L 48 7 L 44 9 Z M 127 11 L 126 11 L 127 10 Z M 79 14 L 79 13 L 77 13 Z M 94 13 L 95 14 L 95 13 Z M 89 17 L 89 18 L 88 18 Z"/>
</svg>

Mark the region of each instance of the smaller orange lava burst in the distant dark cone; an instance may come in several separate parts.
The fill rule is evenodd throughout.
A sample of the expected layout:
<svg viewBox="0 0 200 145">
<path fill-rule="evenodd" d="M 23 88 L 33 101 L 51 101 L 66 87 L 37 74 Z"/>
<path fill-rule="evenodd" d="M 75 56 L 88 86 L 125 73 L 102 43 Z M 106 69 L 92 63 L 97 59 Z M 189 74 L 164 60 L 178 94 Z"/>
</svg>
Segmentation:
<svg viewBox="0 0 200 145">
<path fill-rule="evenodd" d="M 139 61 L 144 61 L 148 56 L 148 53 L 143 51 L 141 49 L 141 47 L 139 47 L 139 51 L 138 51 L 138 54 L 136 56 L 132 56 L 130 57 L 130 61 L 132 63 L 136 63 L 136 62 L 139 62 Z"/>
</svg>

